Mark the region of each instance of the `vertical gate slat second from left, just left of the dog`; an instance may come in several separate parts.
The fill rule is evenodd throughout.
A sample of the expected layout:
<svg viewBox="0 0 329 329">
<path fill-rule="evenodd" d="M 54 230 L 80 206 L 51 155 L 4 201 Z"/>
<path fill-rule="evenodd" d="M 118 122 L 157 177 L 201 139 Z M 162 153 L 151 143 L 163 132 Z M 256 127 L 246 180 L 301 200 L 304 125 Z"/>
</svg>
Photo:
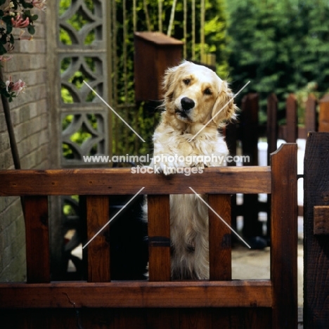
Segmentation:
<svg viewBox="0 0 329 329">
<path fill-rule="evenodd" d="M 110 281 L 110 243 L 108 241 L 109 200 L 106 195 L 86 198 L 86 222 L 88 241 L 88 281 Z M 98 233 L 101 228 L 103 231 Z M 91 240 L 92 239 L 92 240 Z"/>
</svg>

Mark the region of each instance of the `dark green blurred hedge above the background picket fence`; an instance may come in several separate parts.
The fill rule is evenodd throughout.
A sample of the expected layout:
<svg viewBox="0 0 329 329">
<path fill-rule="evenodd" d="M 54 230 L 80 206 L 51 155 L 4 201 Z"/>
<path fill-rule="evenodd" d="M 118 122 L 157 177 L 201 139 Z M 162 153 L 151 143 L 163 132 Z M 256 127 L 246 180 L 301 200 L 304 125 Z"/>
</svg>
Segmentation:
<svg viewBox="0 0 329 329">
<path fill-rule="evenodd" d="M 245 93 L 260 94 L 263 113 L 269 93 L 277 94 L 283 110 L 288 94 L 309 82 L 316 82 L 320 93 L 328 90 L 328 1 L 232 0 L 229 14 L 234 89 L 250 80 Z"/>
</svg>

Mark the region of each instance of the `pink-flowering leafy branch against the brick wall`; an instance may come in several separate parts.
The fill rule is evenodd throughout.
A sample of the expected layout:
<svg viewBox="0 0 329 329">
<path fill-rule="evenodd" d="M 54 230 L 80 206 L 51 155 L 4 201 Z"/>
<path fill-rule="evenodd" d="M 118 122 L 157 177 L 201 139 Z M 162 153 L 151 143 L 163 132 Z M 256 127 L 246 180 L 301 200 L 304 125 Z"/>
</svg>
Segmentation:
<svg viewBox="0 0 329 329">
<path fill-rule="evenodd" d="M 11 0 L 8 4 L 7 0 L 0 0 L 0 22 L 2 22 L 2 26 L 0 25 L 0 65 L 1 62 L 11 59 L 4 55 L 14 49 L 14 28 L 20 29 L 18 40 L 23 39 L 22 34 L 25 30 L 31 35 L 30 38 L 25 39 L 32 39 L 32 35 L 35 33 L 34 22 L 38 19 L 38 15 L 31 13 L 31 9 L 38 8 L 44 11 L 45 2 L 46 0 Z M 13 101 L 13 98 L 24 89 L 25 82 L 22 82 L 21 79 L 18 82 L 12 82 L 11 77 L 6 82 L 0 79 L 0 94 L 8 98 L 9 102 Z"/>
</svg>

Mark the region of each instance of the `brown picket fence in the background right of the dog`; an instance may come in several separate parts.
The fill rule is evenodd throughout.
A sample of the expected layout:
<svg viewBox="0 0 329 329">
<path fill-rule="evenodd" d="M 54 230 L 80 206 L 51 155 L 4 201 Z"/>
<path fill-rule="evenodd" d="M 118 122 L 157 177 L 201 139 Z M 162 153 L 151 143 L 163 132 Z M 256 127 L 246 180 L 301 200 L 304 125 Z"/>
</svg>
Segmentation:
<svg viewBox="0 0 329 329">
<path fill-rule="evenodd" d="M 318 112 L 317 112 L 318 107 Z M 238 124 L 231 124 L 226 130 L 226 140 L 231 153 L 236 154 L 236 141 L 240 140 L 243 155 L 250 156 L 250 163 L 258 165 L 258 141 L 265 137 L 267 140 L 267 159 L 277 149 L 278 139 L 287 143 L 295 143 L 297 138 L 307 138 L 309 131 L 329 131 L 329 95 L 318 101 L 310 94 L 304 104 L 304 127 L 299 127 L 297 118 L 297 98 L 290 94 L 285 103 L 285 124 L 278 124 L 278 98 L 272 93 L 267 98 L 267 122 L 259 124 L 259 95 L 248 93 L 241 103 Z M 233 208 L 233 221 L 236 216 L 243 216 L 243 233 L 246 237 L 262 236 L 262 223 L 259 212 L 267 212 L 270 216 L 268 202 L 259 202 L 258 195 L 243 195 L 243 205 Z M 303 216 L 303 207 L 298 208 L 299 216 Z M 270 221 L 267 223 L 269 239 Z"/>
</svg>

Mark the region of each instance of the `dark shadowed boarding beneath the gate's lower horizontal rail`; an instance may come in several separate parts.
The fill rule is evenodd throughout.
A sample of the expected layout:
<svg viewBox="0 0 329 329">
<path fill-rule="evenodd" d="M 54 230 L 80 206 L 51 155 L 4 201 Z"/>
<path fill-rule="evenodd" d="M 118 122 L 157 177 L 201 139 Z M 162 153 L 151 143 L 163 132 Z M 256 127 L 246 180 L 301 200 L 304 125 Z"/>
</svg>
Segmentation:
<svg viewBox="0 0 329 329">
<path fill-rule="evenodd" d="M 271 309 L 180 308 L 180 309 L 0 309 L 1 323 L 9 328 L 92 328 L 92 329 L 209 329 L 271 328 Z M 212 321 L 211 325 L 205 319 Z M 8 326 L 6 327 L 8 328 Z"/>
</svg>

